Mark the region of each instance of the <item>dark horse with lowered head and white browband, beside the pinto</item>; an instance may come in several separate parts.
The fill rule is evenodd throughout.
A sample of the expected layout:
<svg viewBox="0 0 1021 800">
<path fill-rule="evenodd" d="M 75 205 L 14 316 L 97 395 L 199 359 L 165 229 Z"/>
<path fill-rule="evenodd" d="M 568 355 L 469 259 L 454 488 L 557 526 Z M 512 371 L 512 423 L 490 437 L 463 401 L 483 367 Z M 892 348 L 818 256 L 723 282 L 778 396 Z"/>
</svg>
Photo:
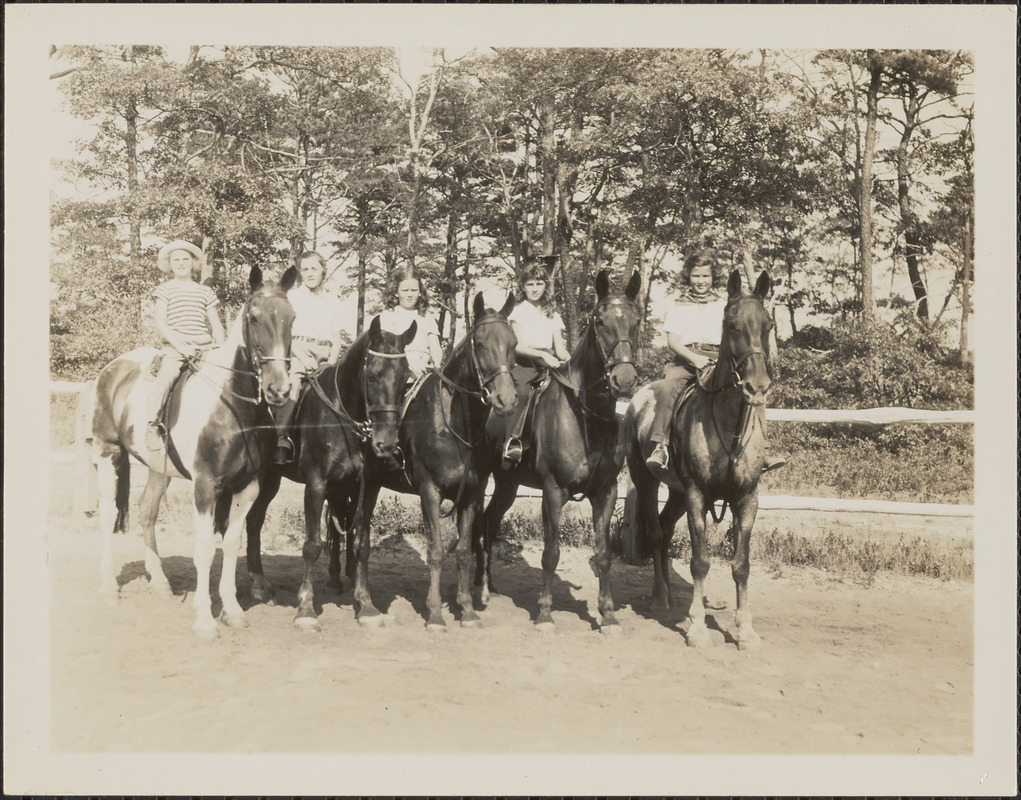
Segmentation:
<svg viewBox="0 0 1021 800">
<path fill-rule="evenodd" d="M 397 450 L 400 397 L 408 379 L 404 348 L 415 339 L 411 322 L 400 336 L 380 328 L 373 319 L 369 331 L 336 364 L 313 378 L 315 385 L 304 396 L 295 414 L 297 457 L 286 465 L 271 464 L 258 497 L 248 514 L 248 571 L 252 594 L 269 599 L 273 590 L 262 572 L 260 539 L 265 510 L 286 477 L 305 485 L 305 543 L 301 555 L 304 579 L 298 591 L 294 624 L 308 631 L 321 626 L 313 607 L 312 580 L 322 549 L 323 504 L 343 505 L 357 494 L 367 457 L 386 460 Z"/>
</svg>

